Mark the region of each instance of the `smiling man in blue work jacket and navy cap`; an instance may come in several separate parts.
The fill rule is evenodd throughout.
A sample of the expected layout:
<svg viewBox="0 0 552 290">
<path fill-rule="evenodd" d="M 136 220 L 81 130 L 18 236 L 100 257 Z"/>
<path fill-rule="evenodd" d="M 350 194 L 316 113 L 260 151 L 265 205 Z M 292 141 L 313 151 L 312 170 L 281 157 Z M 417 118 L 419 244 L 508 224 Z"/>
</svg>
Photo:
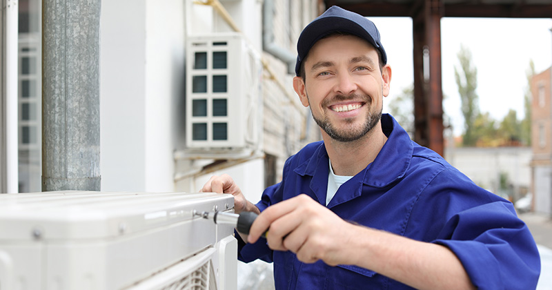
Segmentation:
<svg viewBox="0 0 552 290">
<path fill-rule="evenodd" d="M 297 52 L 293 87 L 323 142 L 257 204 L 228 175 L 202 189 L 260 213 L 240 260 L 274 262 L 276 289 L 535 289 L 538 251 L 513 206 L 382 115 L 391 67 L 371 21 L 334 6 Z"/>
</svg>

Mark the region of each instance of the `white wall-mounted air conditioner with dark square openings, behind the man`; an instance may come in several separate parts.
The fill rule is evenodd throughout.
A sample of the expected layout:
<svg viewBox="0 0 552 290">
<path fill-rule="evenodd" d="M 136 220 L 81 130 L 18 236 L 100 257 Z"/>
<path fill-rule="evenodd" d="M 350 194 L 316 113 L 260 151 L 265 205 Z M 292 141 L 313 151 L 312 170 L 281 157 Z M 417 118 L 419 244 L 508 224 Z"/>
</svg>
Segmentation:
<svg viewBox="0 0 552 290">
<path fill-rule="evenodd" d="M 260 56 L 239 33 L 188 37 L 186 144 L 194 151 L 256 149 L 262 134 Z"/>
</svg>

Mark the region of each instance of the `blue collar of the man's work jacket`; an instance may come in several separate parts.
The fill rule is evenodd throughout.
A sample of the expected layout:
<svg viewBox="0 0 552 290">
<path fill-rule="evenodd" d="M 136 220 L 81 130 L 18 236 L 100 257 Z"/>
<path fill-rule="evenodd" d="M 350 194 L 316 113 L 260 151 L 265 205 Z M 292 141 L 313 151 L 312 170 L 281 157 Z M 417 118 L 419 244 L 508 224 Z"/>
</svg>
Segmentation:
<svg viewBox="0 0 552 290">
<path fill-rule="evenodd" d="M 382 129 L 388 138 L 386 144 L 377 154 L 374 162 L 366 166 L 363 171 L 357 173 L 352 179 L 357 180 L 357 177 L 360 177 L 363 184 L 376 188 L 388 186 L 404 176 L 408 166 L 410 166 L 414 148 L 408 133 L 391 115 L 382 115 Z M 315 189 L 322 187 L 325 189 L 327 186 L 328 170 L 328 153 L 324 142 L 319 142 L 312 157 L 299 164 L 294 172 L 302 176 L 315 177 L 311 182 L 311 188 L 315 192 L 319 192 Z M 319 180 L 326 180 L 326 184 L 318 182 Z M 326 191 L 323 192 L 325 199 Z"/>
</svg>

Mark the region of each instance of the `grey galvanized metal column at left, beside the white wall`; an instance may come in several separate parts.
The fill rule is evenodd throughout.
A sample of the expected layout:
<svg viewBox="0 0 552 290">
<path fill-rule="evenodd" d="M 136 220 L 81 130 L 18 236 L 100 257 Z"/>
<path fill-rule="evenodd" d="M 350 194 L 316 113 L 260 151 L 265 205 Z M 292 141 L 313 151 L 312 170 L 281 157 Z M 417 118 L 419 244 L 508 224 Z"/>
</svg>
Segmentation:
<svg viewBox="0 0 552 290">
<path fill-rule="evenodd" d="M 100 190 L 101 0 L 42 1 L 42 190 Z"/>
</svg>

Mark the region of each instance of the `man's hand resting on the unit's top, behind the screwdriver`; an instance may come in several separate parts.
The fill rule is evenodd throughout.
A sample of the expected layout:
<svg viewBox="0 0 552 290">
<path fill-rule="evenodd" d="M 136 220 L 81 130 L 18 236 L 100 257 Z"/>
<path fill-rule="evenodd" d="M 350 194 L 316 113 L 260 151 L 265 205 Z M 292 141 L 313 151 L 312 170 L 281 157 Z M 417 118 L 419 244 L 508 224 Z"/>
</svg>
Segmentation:
<svg viewBox="0 0 552 290">
<path fill-rule="evenodd" d="M 259 213 L 259 209 L 255 204 L 248 202 L 246 197 L 234 182 L 232 177 L 228 174 L 221 176 L 213 175 L 208 182 L 203 186 L 201 192 L 213 192 L 213 193 L 229 193 L 234 196 L 234 212 L 241 213 L 242 211 L 253 211 Z"/>
</svg>

